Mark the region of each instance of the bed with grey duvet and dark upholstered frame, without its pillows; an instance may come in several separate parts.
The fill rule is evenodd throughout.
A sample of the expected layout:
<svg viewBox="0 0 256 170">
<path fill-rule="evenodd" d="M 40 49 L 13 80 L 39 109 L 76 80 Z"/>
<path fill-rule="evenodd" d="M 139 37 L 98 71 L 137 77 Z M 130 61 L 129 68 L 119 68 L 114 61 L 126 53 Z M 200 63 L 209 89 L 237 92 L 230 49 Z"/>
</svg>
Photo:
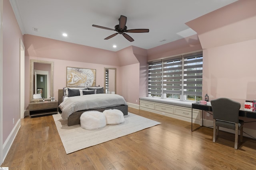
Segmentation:
<svg viewBox="0 0 256 170">
<path fill-rule="evenodd" d="M 96 110 L 96 111 L 102 112 L 106 109 L 118 109 L 122 111 L 124 115 L 128 114 L 128 105 L 126 104 L 125 100 L 124 102 L 120 102 L 120 100 L 123 98 L 120 95 L 90 94 L 90 95 L 83 95 L 83 96 L 74 96 L 74 97 L 69 97 L 64 99 L 63 97 L 64 91 L 65 91 L 64 89 L 58 90 L 58 106 L 59 106 L 59 112 L 62 114 L 62 118 L 68 120 L 68 126 L 80 124 L 80 116 L 82 115 L 82 113 L 89 110 Z M 114 99 L 116 97 L 117 97 L 117 100 Z M 116 102 L 108 102 L 108 104 L 102 102 L 103 105 L 100 106 L 101 101 L 99 101 L 99 98 L 102 98 L 103 100 L 106 100 L 106 98 L 112 98 L 116 100 Z M 92 106 L 94 108 L 92 108 L 91 106 L 90 107 L 86 106 L 85 103 L 93 103 L 92 99 L 98 101 L 100 104 L 98 104 L 97 102 L 94 102 L 95 104 L 98 104 L 97 106 Z M 75 102 L 75 104 L 71 104 L 71 101 Z M 81 104 L 83 103 L 82 101 L 84 102 L 84 104 Z M 79 106 L 78 106 L 78 103 L 80 103 Z M 78 108 L 75 108 L 75 106 L 78 106 Z"/>
</svg>

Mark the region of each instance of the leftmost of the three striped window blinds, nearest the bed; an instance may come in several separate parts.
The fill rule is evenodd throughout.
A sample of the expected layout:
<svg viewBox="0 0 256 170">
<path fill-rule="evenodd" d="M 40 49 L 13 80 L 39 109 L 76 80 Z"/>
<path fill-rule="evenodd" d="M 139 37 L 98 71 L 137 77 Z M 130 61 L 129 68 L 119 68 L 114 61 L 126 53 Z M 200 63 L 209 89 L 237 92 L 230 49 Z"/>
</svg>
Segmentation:
<svg viewBox="0 0 256 170">
<path fill-rule="evenodd" d="M 161 97 L 162 62 L 148 64 L 148 96 Z"/>
</svg>

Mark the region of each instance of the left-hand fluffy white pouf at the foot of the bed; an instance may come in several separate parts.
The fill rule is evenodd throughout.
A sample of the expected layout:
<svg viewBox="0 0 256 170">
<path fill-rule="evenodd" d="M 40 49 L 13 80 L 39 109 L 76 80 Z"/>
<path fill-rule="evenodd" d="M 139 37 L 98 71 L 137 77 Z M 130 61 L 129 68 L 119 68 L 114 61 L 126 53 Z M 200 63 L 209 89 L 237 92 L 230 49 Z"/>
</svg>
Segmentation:
<svg viewBox="0 0 256 170">
<path fill-rule="evenodd" d="M 80 124 L 83 129 L 99 129 L 106 126 L 106 117 L 100 111 L 86 111 L 80 117 Z"/>
</svg>

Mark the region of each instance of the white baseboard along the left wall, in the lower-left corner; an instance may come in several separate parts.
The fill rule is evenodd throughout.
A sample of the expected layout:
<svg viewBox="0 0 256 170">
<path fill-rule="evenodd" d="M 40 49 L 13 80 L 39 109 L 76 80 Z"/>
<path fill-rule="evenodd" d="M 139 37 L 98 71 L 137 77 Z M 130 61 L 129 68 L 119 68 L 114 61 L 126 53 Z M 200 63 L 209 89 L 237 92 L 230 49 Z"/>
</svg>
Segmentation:
<svg viewBox="0 0 256 170">
<path fill-rule="evenodd" d="M 12 143 L 13 143 L 19 129 L 20 129 L 20 119 L 17 121 L 17 123 L 14 126 L 14 128 L 12 129 L 10 135 L 7 137 L 6 141 L 4 142 L 4 145 L 3 145 L 3 162 L 4 162 L 4 159 L 6 158 L 8 152 L 10 150 L 10 147 L 12 146 Z"/>
</svg>

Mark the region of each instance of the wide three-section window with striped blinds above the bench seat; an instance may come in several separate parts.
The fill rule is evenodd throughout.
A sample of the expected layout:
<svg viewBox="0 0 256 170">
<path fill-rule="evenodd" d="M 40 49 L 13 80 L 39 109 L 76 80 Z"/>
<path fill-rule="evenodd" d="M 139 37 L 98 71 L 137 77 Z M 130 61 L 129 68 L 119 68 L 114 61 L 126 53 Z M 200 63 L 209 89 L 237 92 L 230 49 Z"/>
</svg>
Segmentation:
<svg viewBox="0 0 256 170">
<path fill-rule="evenodd" d="M 148 63 L 148 96 L 202 100 L 202 52 Z"/>
</svg>

